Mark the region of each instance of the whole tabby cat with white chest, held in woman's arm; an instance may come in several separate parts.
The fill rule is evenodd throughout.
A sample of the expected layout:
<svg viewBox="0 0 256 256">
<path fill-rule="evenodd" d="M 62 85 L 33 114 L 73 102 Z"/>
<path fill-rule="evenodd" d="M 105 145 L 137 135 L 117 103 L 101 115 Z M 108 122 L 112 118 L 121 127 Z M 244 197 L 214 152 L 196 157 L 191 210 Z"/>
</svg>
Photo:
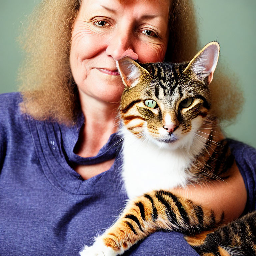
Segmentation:
<svg viewBox="0 0 256 256">
<path fill-rule="evenodd" d="M 210 108 L 208 86 L 218 57 L 219 44 L 211 42 L 189 63 L 118 61 L 125 85 L 122 175 L 130 201 L 81 256 L 122 254 L 157 230 L 188 234 L 200 255 L 256 255 L 256 212 L 221 226 L 223 214 L 170 192 L 225 179 L 235 165 Z"/>
</svg>

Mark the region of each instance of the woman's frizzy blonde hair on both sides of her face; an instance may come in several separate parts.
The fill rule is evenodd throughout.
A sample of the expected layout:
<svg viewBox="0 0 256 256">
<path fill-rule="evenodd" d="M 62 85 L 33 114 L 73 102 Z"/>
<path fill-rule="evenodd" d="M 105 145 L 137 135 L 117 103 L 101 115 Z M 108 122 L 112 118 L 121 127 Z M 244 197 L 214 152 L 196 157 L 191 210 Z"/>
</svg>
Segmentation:
<svg viewBox="0 0 256 256">
<path fill-rule="evenodd" d="M 124 2 L 125 0 L 119 0 Z M 43 0 L 27 19 L 19 37 L 25 51 L 18 72 L 26 111 L 37 120 L 74 124 L 80 112 L 78 91 L 69 64 L 71 32 L 81 0 Z M 192 0 L 173 0 L 165 61 L 189 61 L 198 52 L 198 31 Z M 220 64 L 218 64 L 218 70 Z M 240 112 L 241 92 L 227 74 L 215 72 L 212 109 L 220 120 Z"/>
</svg>

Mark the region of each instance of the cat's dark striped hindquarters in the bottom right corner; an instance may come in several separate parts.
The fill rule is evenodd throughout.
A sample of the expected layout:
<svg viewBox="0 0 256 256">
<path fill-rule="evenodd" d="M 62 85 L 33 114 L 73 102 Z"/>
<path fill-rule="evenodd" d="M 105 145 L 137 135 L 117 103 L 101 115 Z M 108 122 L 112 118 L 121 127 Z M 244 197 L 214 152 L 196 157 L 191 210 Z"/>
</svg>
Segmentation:
<svg viewBox="0 0 256 256">
<path fill-rule="evenodd" d="M 256 211 L 185 239 L 202 256 L 256 255 Z"/>
</svg>

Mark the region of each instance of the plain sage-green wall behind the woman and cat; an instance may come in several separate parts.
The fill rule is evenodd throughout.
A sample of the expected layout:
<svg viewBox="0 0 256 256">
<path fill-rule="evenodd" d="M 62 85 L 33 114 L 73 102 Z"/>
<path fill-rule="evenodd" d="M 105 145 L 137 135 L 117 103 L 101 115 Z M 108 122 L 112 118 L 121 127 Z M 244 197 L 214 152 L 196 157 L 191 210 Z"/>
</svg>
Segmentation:
<svg viewBox="0 0 256 256">
<path fill-rule="evenodd" d="M 0 93 L 17 90 L 16 72 L 21 51 L 16 37 L 22 21 L 38 2 L 0 0 Z M 244 91 L 242 113 L 234 124 L 225 127 L 226 136 L 256 147 L 256 0 L 194 0 L 194 3 L 201 46 L 213 40 L 220 42 L 220 59 L 239 78 Z"/>
</svg>

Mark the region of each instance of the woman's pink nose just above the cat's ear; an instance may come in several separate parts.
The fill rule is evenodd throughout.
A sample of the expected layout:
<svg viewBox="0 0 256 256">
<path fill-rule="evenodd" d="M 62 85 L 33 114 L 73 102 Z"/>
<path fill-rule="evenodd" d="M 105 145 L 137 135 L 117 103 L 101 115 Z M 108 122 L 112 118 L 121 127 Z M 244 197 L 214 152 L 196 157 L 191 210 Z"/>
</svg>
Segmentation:
<svg viewBox="0 0 256 256">
<path fill-rule="evenodd" d="M 127 56 L 137 60 L 138 55 L 132 49 L 131 40 L 129 32 L 115 31 L 115 36 L 111 38 L 106 49 L 107 55 L 112 56 L 114 60 L 121 60 Z"/>
</svg>

